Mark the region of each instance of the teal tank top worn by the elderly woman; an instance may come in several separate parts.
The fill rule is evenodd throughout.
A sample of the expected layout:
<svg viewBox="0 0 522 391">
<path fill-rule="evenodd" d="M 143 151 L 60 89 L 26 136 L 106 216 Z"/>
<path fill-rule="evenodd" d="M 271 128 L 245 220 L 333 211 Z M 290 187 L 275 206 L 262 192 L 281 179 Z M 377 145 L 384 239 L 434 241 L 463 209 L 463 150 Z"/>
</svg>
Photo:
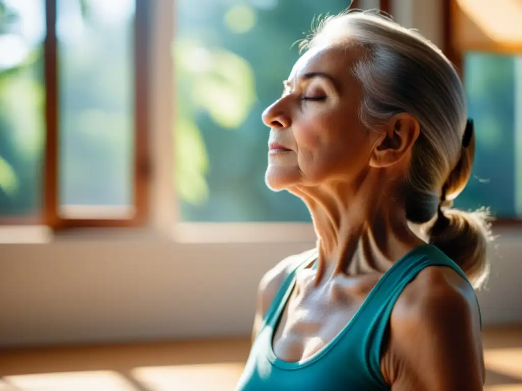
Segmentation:
<svg viewBox="0 0 522 391">
<path fill-rule="evenodd" d="M 330 343 L 309 359 L 283 361 L 272 350 L 274 330 L 295 285 L 295 272 L 316 257 L 315 251 L 304 261 L 301 258 L 281 285 L 265 314 L 236 391 L 389 390 L 381 373 L 382 347 L 402 290 L 428 266 L 450 267 L 468 281 L 461 268 L 436 247 L 413 249 L 378 280 L 359 311 Z"/>
</svg>

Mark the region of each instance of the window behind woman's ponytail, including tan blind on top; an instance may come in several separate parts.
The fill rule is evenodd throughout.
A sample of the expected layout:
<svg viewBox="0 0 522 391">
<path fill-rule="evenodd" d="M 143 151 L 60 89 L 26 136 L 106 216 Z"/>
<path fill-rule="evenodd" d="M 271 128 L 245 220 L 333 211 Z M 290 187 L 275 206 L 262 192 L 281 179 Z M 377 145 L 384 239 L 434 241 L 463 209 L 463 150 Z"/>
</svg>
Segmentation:
<svg viewBox="0 0 522 391">
<path fill-rule="evenodd" d="M 522 216 L 522 8 L 509 1 L 446 2 L 448 56 L 459 68 L 475 121 L 472 176 L 455 204 Z M 506 28 L 508 26 L 508 28 Z"/>
</svg>

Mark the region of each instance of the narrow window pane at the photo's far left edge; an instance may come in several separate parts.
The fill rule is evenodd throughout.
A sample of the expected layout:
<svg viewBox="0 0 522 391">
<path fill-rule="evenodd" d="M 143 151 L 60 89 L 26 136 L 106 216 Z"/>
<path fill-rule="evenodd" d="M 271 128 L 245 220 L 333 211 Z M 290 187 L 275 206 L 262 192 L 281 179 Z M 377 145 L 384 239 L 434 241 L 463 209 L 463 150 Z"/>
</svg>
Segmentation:
<svg viewBox="0 0 522 391">
<path fill-rule="evenodd" d="M 0 0 L 0 217 L 41 206 L 44 35 L 43 0 Z"/>
</svg>

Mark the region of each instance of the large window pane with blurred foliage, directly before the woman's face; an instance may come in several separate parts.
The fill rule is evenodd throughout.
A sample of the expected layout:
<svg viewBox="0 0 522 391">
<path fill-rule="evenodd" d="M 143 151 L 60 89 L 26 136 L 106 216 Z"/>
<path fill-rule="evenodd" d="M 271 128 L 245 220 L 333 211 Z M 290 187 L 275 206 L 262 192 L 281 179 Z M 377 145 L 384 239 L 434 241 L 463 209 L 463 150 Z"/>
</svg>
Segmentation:
<svg viewBox="0 0 522 391">
<path fill-rule="evenodd" d="M 282 91 L 292 43 L 346 0 L 178 0 L 174 45 L 175 181 L 184 221 L 309 221 L 304 204 L 264 183 L 263 110 Z"/>
</svg>

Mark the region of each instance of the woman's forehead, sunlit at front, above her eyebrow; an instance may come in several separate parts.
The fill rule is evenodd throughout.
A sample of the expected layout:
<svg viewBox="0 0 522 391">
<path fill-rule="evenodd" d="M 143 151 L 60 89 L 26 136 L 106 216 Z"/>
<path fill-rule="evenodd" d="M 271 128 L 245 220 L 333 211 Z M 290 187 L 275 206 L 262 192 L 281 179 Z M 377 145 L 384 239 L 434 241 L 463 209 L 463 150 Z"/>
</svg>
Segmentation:
<svg viewBox="0 0 522 391">
<path fill-rule="evenodd" d="M 348 81 L 352 79 L 349 70 L 360 55 L 360 50 L 349 45 L 312 47 L 295 62 L 290 80 L 310 72 L 324 72 L 340 82 Z"/>
</svg>

